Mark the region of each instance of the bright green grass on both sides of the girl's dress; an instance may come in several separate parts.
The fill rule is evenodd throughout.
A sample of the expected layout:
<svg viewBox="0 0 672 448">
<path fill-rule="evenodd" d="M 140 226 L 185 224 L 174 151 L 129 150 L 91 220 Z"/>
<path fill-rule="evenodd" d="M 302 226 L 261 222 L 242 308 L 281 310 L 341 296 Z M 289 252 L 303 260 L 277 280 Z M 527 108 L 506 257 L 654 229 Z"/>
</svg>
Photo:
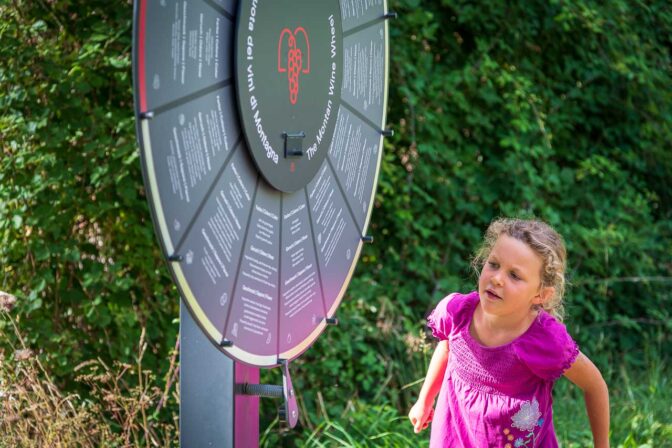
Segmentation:
<svg viewBox="0 0 672 448">
<path fill-rule="evenodd" d="M 611 401 L 611 446 L 615 448 L 672 447 L 672 369 L 660 360 L 631 371 L 625 366 L 607 372 Z M 560 445 L 592 447 L 592 435 L 580 389 L 560 379 L 554 390 L 554 423 Z M 324 406 L 312 431 L 278 438 L 274 421 L 262 435 L 261 446 L 306 447 L 427 447 L 429 431 L 414 434 L 401 412 L 385 403 L 351 400 L 342 415 L 328 415 Z"/>
</svg>

